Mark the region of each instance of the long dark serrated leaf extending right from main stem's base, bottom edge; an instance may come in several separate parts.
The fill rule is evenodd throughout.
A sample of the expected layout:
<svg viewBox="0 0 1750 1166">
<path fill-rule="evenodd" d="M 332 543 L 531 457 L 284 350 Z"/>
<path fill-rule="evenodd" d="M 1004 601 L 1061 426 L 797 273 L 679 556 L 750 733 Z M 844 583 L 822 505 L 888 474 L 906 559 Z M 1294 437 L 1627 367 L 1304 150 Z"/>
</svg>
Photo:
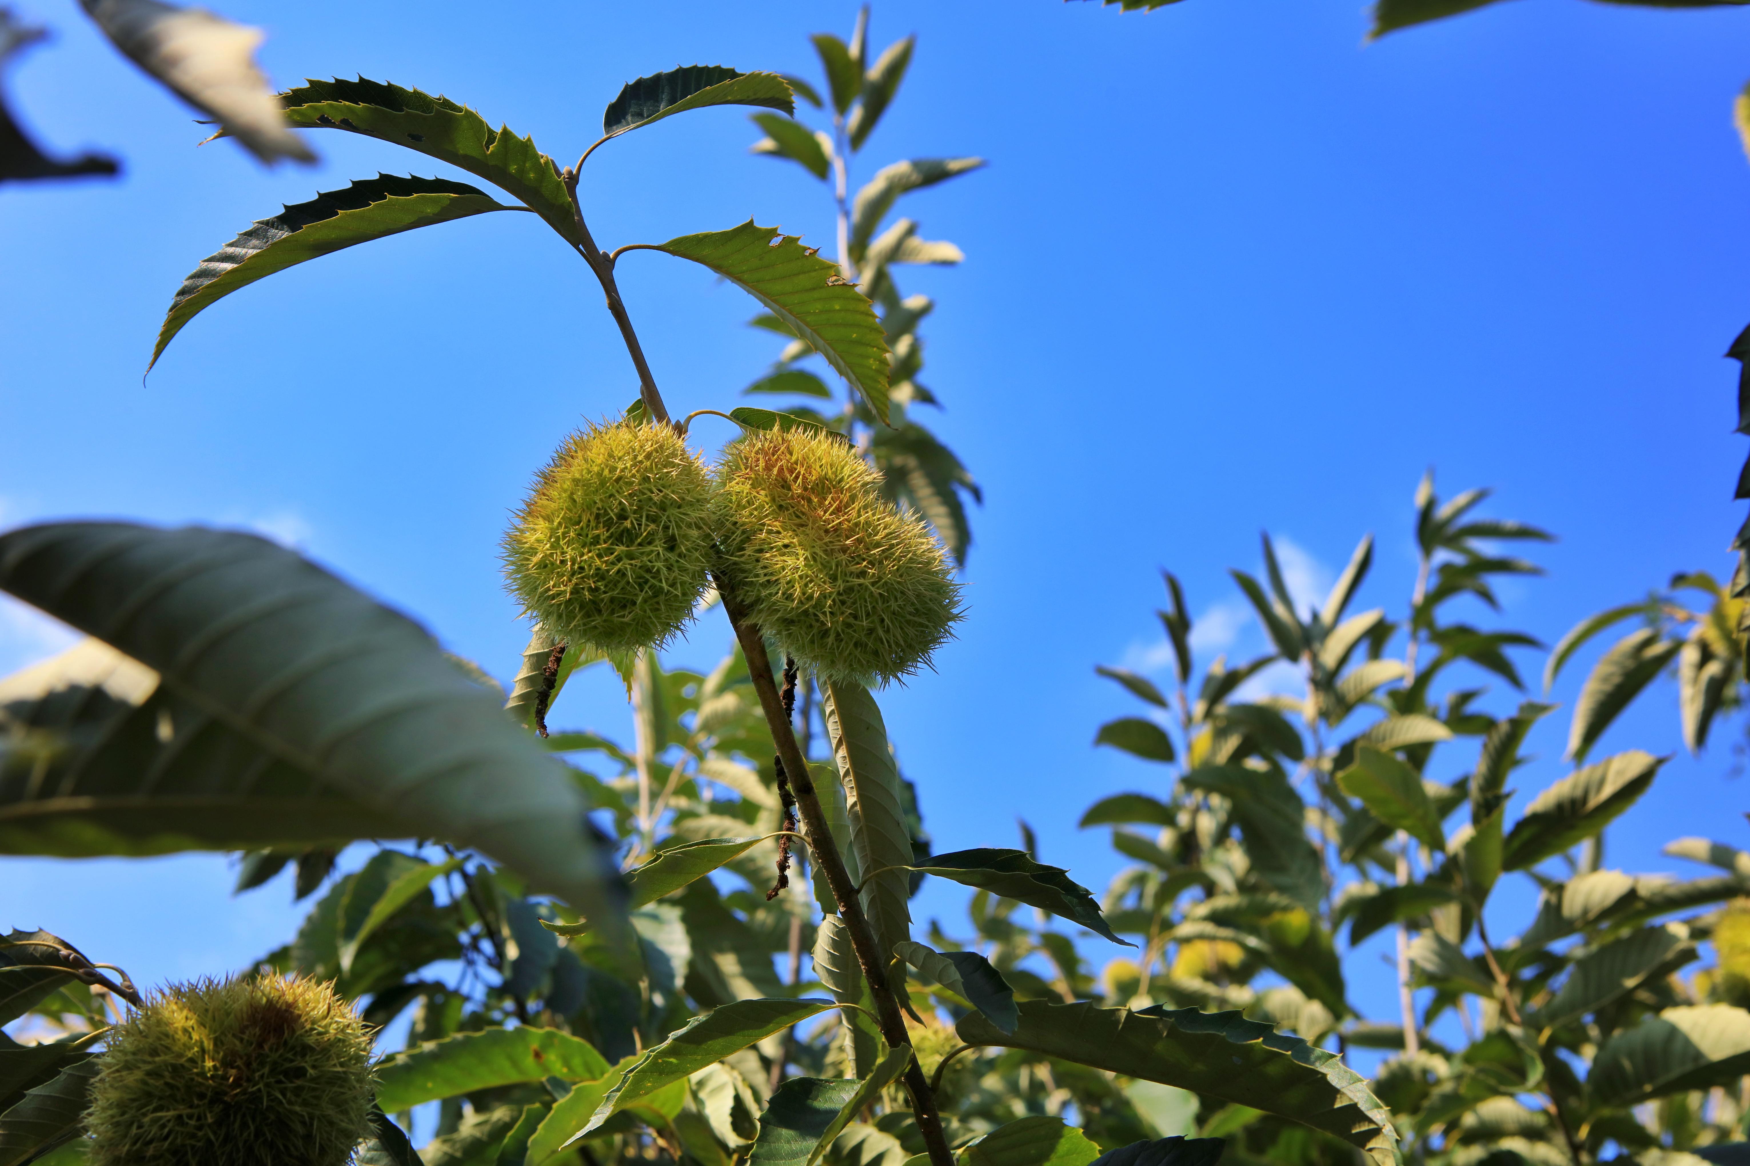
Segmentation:
<svg viewBox="0 0 1750 1166">
<path fill-rule="evenodd" d="M 1390 1114 L 1362 1077 L 1337 1054 L 1239 1012 L 1130 1012 L 1027 1000 L 1013 1035 L 976 1012 L 961 1017 L 956 1031 L 971 1045 L 1029 1049 L 1250 1105 L 1334 1135 L 1362 1149 L 1374 1166 L 1395 1166 Z"/>
</svg>

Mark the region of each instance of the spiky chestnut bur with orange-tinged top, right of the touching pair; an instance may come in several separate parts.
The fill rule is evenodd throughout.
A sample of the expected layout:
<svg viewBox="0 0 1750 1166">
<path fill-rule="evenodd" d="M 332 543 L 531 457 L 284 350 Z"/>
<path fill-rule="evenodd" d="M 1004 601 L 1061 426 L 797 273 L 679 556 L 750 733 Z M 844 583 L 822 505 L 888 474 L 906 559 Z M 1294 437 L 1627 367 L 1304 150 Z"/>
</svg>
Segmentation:
<svg viewBox="0 0 1750 1166">
<path fill-rule="evenodd" d="M 917 517 L 835 435 L 766 430 L 718 468 L 723 570 L 761 629 L 824 678 L 887 684 L 961 619 L 959 584 Z"/>
</svg>

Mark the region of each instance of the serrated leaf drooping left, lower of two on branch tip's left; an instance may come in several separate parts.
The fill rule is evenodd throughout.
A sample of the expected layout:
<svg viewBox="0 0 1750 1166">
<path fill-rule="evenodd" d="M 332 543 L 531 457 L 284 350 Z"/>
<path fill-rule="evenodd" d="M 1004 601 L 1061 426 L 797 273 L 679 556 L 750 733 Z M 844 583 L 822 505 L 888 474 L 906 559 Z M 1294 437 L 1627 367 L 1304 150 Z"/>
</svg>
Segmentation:
<svg viewBox="0 0 1750 1166">
<path fill-rule="evenodd" d="M 203 308 L 256 280 L 359 243 L 494 210 L 513 208 L 466 182 L 378 175 L 354 182 L 345 191 L 324 191 L 271 219 L 257 219 L 248 231 L 203 259 L 177 288 L 164 323 L 158 329 L 147 372 Z"/>
</svg>

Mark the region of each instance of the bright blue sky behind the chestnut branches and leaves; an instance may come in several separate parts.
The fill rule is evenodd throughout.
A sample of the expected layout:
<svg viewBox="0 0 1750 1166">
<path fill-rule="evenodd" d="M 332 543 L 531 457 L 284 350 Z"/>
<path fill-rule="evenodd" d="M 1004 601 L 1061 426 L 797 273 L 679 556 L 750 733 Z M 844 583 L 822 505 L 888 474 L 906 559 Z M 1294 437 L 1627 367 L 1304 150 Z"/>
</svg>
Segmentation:
<svg viewBox="0 0 1750 1166">
<path fill-rule="evenodd" d="M 276 82 L 443 91 L 560 159 L 632 77 L 690 63 L 812 77 L 807 35 L 854 14 L 844 0 L 443 0 L 416 23 L 369 0 L 219 7 L 270 30 Z M 187 110 L 70 0 L 24 16 L 58 38 L 14 70 L 14 107 L 52 149 L 112 149 L 126 175 L 0 187 L 0 523 L 268 530 L 509 675 L 525 633 L 497 575 L 506 514 L 567 428 L 635 386 L 583 264 L 522 215 L 404 234 L 208 309 L 142 386 L 177 283 L 250 220 L 378 170 L 448 171 L 345 135 L 313 138 L 315 171 L 194 149 Z M 1309 582 L 1376 531 L 1362 601 L 1402 614 L 1428 465 L 1446 493 L 1493 486 L 1489 512 L 1563 537 L 1538 552 L 1547 579 L 1505 591 L 1507 621 L 1545 642 L 1675 570 L 1729 575 L 1745 441 L 1720 353 L 1750 320 L 1750 168 L 1731 128 L 1750 14 L 1517 0 L 1372 45 L 1363 28 L 1353 2 L 877 5 L 875 42 L 917 31 L 919 51 L 861 177 L 903 156 L 992 163 L 906 205 L 968 255 L 905 287 L 940 301 L 924 379 L 947 413 L 926 420 L 987 498 L 961 638 L 882 698 L 938 848 L 1013 844 L 1020 815 L 1046 860 L 1102 888 L 1118 864 L 1076 816 L 1158 774 L 1088 746 L 1134 711 L 1092 668 L 1162 663 L 1157 568 L 1208 617 L 1206 656 L 1262 647 L 1225 577 L 1256 570 L 1260 528 Z M 597 238 L 754 217 L 831 252 L 817 184 L 749 156 L 756 136 L 746 112 L 714 110 L 614 143 L 584 184 Z M 654 253 L 621 273 L 670 402 L 735 404 L 774 355 L 744 327 L 751 301 Z M 0 607 L 0 670 L 61 643 Z M 707 622 L 674 659 L 709 666 L 726 645 Z M 1510 699 L 1496 691 L 1491 708 Z M 607 685 L 567 692 L 555 720 L 628 724 Z M 1566 710 L 1533 734 L 1544 760 L 1521 799 L 1563 773 L 1564 731 Z M 1680 834 L 1750 843 L 1741 739 L 1726 729 L 1703 760 L 1668 766 L 1612 862 L 1676 869 L 1657 848 Z M 1678 752 L 1673 696 L 1605 746 Z M 142 981 L 220 972 L 301 916 L 280 885 L 231 900 L 229 881 L 219 857 L 0 858 L 0 925 L 61 932 Z M 931 888 L 924 911 L 947 921 L 957 904 Z M 1390 1014 L 1382 970 L 1356 974 L 1354 1003 Z"/>
</svg>

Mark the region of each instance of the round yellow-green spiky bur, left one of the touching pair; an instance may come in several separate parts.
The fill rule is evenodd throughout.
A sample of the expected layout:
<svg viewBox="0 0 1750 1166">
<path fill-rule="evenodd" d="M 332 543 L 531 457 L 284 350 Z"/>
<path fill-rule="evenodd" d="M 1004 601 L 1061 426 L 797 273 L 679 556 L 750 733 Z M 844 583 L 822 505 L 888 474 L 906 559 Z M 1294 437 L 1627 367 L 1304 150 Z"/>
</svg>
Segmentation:
<svg viewBox="0 0 1750 1166">
<path fill-rule="evenodd" d="M 705 591 L 710 493 L 704 463 L 668 425 L 572 434 L 504 535 L 509 591 L 562 643 L 662 645 Z"/>
</svg>

